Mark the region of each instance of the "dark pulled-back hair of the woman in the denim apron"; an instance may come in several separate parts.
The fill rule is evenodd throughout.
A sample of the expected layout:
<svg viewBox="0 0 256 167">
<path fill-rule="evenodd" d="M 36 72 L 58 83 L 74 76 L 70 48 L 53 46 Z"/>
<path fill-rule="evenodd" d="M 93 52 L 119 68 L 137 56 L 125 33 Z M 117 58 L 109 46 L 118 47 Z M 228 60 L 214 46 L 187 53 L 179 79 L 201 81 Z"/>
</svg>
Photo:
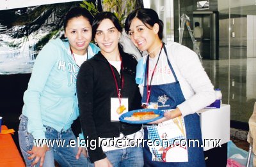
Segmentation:
<svg viewBox="0 0 256 167">
<path fill-rule="evenodd" d="M 127 34 L 129 33 L 131 22 L 134 18 L 138 18 L 139 20 L 141 20 L 141 22 L 143 22 L 143 24 L 146 27 L 148 27 L 148 25 L 153 27 L 154 24 L 158 24 L 159 25 L 158 37 L 160 40 L 163 39 L 164 23 L 162 20 L 159 19 L 156 11 L 148 8 L 132 11 L 125 20 L 124 28 Z M 151 27 L 148 27 L 148 29 L 151 29 Z"/>
</svg>

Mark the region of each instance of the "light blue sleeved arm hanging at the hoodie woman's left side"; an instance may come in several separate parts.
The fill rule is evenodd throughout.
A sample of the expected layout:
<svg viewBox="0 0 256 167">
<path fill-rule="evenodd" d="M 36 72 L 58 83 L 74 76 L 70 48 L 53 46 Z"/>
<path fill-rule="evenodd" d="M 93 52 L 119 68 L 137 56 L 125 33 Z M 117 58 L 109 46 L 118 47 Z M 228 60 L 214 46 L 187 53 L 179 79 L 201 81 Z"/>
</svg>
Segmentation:
<svg viewBox="0 0 256 167">
<path fill-rule="evenodd" d="M 33 135 L 35 140 L 45 139 L 45 127 L 42 123 L 40 98 L 52 71 L 52 67 L 57 61 L 58 54 L 60 54 L 60 50 L 55 45 L 52 43 L 45 45 L 36 57 L 33 72 L 28 83 L 28 89 L 24 92 L 24 108 L 26 110 L 26 117 L 28 117 L 28 132 Z"/>
</svg>

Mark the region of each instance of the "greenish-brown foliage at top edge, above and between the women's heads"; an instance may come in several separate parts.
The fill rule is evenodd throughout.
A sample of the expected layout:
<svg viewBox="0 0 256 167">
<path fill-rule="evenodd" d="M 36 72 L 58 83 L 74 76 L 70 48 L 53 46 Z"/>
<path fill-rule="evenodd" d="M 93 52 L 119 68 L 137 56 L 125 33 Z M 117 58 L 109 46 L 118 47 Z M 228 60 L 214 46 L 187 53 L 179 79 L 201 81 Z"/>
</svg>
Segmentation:
<svg viewBox="0 0 256 167">
<path fill-rule="evenodd" d="M 103 0 L 103 10 L 113 12 L 118 18 L 121 25 L 124 25 L 125 18 L 131 11 L 134 10 L 136 5 L 136 0 Z M 86 8 L 93 16 L 95 16 L 99 11 L 97 6 L 92 2 L 88 3 L 83 1 L 83 4 L 80 4 L 81 7 Z"/>
</svg>

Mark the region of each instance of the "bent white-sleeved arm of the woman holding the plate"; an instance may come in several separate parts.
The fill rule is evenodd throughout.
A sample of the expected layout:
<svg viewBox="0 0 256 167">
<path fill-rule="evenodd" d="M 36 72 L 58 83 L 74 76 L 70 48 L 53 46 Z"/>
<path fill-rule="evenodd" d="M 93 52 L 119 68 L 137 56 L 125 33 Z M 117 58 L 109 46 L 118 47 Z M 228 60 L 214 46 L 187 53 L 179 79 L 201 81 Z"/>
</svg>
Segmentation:
<svg viewBox="0 0 256 167">
<path fill-rule="evenodd" d="M 213 103 L 215 92 L 211 80 L 204 71 L 202 63 L 195 52 L 180 45 L 177 48 L 177 55 L 174 57 L 174 63 L 178 67 L 180 74 L 190 86 L 186 89 L 193 89 L 195 92 L 193 96 L 177 106 L 184 117 L 198 112 L 198 110 Z"/>
</svg>

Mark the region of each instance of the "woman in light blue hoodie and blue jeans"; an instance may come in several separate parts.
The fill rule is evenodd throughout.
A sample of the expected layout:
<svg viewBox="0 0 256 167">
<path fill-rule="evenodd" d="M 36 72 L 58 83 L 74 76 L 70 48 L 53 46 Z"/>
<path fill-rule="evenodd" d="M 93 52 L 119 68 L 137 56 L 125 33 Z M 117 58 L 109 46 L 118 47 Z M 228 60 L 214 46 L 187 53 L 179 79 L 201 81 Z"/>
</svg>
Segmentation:
<svg viewBox="0 0 256 167">
<path fill-rule="evenodd" d="M 54 160 L 60 166 L 86 166 L 86 155 L 80 156 L 69 142 L 77 142 L 71 129 L 79 115 L 77 72 L 99 52 L 90 43 L 92 20 L 84 8 L 72 8 L 64 20 L 66 40 L 51 40 L 36 57 L 19 126 L 20 150 L 27 166 L 54 166 Z"/>
</svg>

